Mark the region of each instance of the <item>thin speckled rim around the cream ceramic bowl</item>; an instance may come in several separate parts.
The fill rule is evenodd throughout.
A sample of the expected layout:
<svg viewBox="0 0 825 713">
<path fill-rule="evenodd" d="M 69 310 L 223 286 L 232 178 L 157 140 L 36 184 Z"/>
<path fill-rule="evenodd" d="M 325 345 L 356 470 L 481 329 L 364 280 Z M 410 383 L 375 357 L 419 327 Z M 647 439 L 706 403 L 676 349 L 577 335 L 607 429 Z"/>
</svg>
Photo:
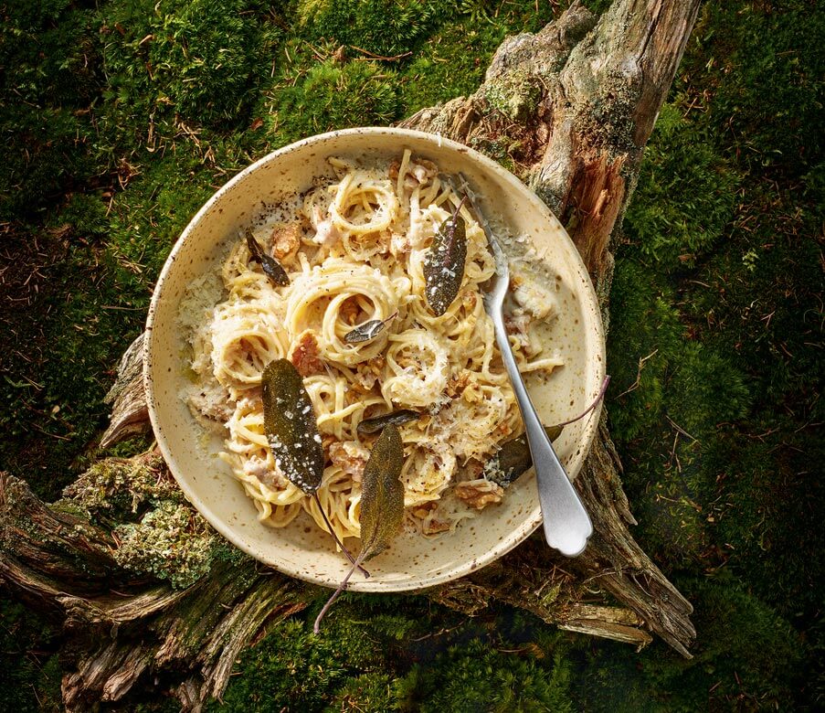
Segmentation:
<svg viewBox="0 0 825 713">
<path fill-rule="evenodd" d="M 292 152 L 295 152 L 301 149 L 302 147 L 307 146 L 308 144 L 329 144 L 330 142 L 333 142 L 335 139 L 341 136 L 370 133 L 397 136 L 399 139 L 417 139 L 420 141 L 425 141 L 433 144 L 434 148 L 441 148 L 442 146 L 446 146 L 459 153 L 467 154 L 467 156 L 472 161 L 481 165 L 481 167 L 485 171 L 496 175 L 505 184 L 510 186 L 510 188 L 512 188 L 513 191 L 521 193 L 532 204 L 536 212 L 542 215 L 543 218 L 551 222 L 555 221 L 559 224 L 558 228 L 560 230 L 560 233 L 563 239 L 565 239 L 568 242 L 568 248 L 570 249 L 572 260 L 576 261 L 577 263 L 576 268 L 579 272 L 579 276 L 584 277 L 584 279 L 576 279 L 576 284 L 582 290 L 582 292 L 578 293 L 578 295 L 581 302 L 589 303 L 585 306 L 590 308 L 588 312 L 589 314 L 593 315 L 594 324 L 590 326 L 593 329 L 594 335 L 598 337 L 598 354 L 600 356 L 600 358 L 595 359 L 595 367 L 598 370 L 599 381 L 603 379 L 606 369 L 606 346 L 604 325 L 601 320 L 601 311 L 598 307 L 598 298 L 596 295 L 596 291 L 593 287 L 593 283 L 590 281 L 587 267 L 585 266 L 584 261 L 582 261 L 581 259 L 581 255 L 576 249 L 576 245 L 574 244 L 573 240 L 570 239 L 564 226 L 562 226 L 560 224 L 560 221 L 558 221 L 557 218 L 555 218 L 555 215 L 550 210 L 550 208 L 547 208 L 545 203 L 538 196 L 535 195 L 534 191 L 530 190 L 528 186 L 525 186 L 524 183 L 522 183 L 522 181 L 520 181 L 516 176 L 513 176 L 513 174 L 510 173 L 510 171 L 503 168 L 502 165 L 497 164 L 491 158 L 488 158 L 484 154 L 480 154 L 479 152 L 475 151 L 470 146 L 460 144 L 459 142 L 455 142 L 450 139 L 444 138 L 440 134 L 436 133 L 427 133 L 411 129 L 381 126 L 364 126 L 352 129 L 341 129 L 338 131 L 328 133 L 319 133 L 314 136 L 301 139 L 301 141 L 289 144 L 278 149 L 277 151 L 273 151 L 270 154 L 263 156 L 254 164 L 249 165 L 247 168 L 240 171 L 236 176 L 233 176 L 229 181 L 227 181 L 226 184 L 224 184 L 224 186 L 221 186 L 216 191 L 216 193 L 213 194 L 213 196 L 206 201 L 204 206 L 197 211 L 194 218 L 192 218 L 189 221 L 189 223 L 186 225 L 185 229 L 181 233 L 180 237 L 175 241 L 175 245 L 169 253 L 169 256 L 166 258 L 164 268 L 161 271 L 157 282 L 155 283 L 152 301 L 149 305 L 149 313 L 146 319 L 147 335 L 151 335 L 152 333 L 154 315 L 157 311 L 157 303 L 160 299 L 161 293 L 163 292 L 162 286 L 170 271 L 173 271 L 175 269 L 175 258 L 178 252 L 182 250 L 186 239 L 194 232 L 194 230 L 200 223 L 201 218 L 203 218 L 203 216 L 206 215 L 209 209 L 212 208 L 218 201 L 220 201 L 221 198 L 224 197 L 224 195 L 226 195 L 233 186 L 244 181 L 247 176 L 259 170 L 259 168 L 261 168 L 262 166 L 267 165 L 276 157 L 280 157 L 284 154 L 290 154 Z M 149 419 L 152 422 L 152 428 L 154 431 L 155 439 L 164 456 L 165 463 L 169 467 L 169 470 L 172 472 L 172 474 L 175 476 L 175 481 L 183 491 L 186 498 L 192 505 L 195 506 L 196 510 L 206 518 L 206 521 L 212 527 L 214 527 L 218 533 L 220 533 L 223 537 L 226 537 L 227 540 L 230 543 L 232 543 L 235 547 L 239 548 L 243 552 L 246 552 L 254 559 L 263 561 L 260 559 L 259 552 L 255 548 L 248 546 L 241 537 L 237 537 L 237 533 L 234 527 L 228 525 L 224 520 L 218 517 L 209 507 L 207 507 L 201 500 L 200 496 L 197 494 L 196 490 L 190 488 L 188 484 L 185 483 L 185 479 L 183 477 L 178 477 L 178 474 L 176 472 L 177 463 L 175 462 L 175 454 L 171 452 L 168 443 L 164 438 L 164 433 L 160 427 L 158 415 L 155 408 L 156 399 L 153 391 L 153 384 L 150 374 L 152 360 L 152 355 L 150 353 L 151 344 L 152 340 L 150 338 L 146 338 L 143 346 L 143 386 L 146 394 L 146 403 L 149 410 Z M 568 467 L 568 474 L 570 475 L 571 479 L 576 478 L 576 475 L 580 472 L 582 466 L 587 460 L 587 455 L 590 452 L 590 449 L 593 445 L 593 441 L 596 437 L 596 433 L 598 431 L 598 423 L 600 419 L 601 409 L 602 404 L 599 403 L 596 409 L 594 409 L 593 413 L 591 413 L 588 417 L 587 425 L 584 429 L 583 438 L 581 440 L 580 455 L 576 456 L 572 467 Z M 407 582 L 376 581 L 373 578 L 358 581 L 351 580 L 348 589 L 350 591 L 364 592 L 418 591 L 428 589 L 439 584 L 444 584 L 445 582 L 449 582 L 452 580 L 458 580 L 460 579 L 460 577 L 464 577 L 465 575 L 470 574 L 473 571 L 481 569 L 481 567 L 484 567 L 490 564 L 491 562 L 495 561 L 496 559 L 499 559 L 503 555 L 507 554 L 507 552 L 509 552 L 511 549 L 521 544 L 524 541 L 524 539 L 530 537 L 530 535 L 533 534 L 535 529 L 539 527 L 541 524 L 541 506 L 536 505 L 531 516 L 525 517 L 524 522 L 520 526 L 513 528 L 513 531 L 509 537 L 502 538 L 502 540 L 500 540 L 497 545 L 490 548 L 482 557 L 468 558 L 467 561 L 461 564 L 457 564 L 451 569 L 445 569 L 439 574 L 424 577 L 420 580 L 411 580 Z M 323 587 L 334 586 L 334 584 L 332 584 L 329 580 L 324 580 L 319 576 L 306 574 L 303 571 L 298 572 L 287 570 L 286 568 L 280 568 L 266 561 L 263 561 L 263 563 L 295 579 L 308 581 L 312 584 L 321 585 Z"/>
</svg>

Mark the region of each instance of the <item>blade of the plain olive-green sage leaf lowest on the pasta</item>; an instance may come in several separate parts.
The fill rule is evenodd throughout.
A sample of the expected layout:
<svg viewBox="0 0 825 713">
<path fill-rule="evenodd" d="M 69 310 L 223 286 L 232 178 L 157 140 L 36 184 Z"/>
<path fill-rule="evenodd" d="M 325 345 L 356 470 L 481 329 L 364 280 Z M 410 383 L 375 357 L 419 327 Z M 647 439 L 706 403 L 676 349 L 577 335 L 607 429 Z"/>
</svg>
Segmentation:
<svg viewBox="0 0 825 713">
<path fill-rule="evenodd" d="M 398 429 L 386 426 L 370 452 L 361 481 L 361 552 L 358 560 L 389 547 L 404 516 L 404 485 L 399 480 L 404 445 Z"/>
</svg>

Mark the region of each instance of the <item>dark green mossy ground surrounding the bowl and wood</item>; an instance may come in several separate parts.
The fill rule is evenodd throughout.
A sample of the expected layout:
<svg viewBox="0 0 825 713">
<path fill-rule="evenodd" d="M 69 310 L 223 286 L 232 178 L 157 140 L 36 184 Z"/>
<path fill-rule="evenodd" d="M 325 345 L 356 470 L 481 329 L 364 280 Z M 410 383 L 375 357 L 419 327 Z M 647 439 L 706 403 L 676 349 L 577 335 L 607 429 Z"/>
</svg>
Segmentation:
<svg viewBox="0 0 825 713">
<path fill-rule="evenodd" d="M 502 37 L 553 14 L 535 7 L 7 0 L 0 467 L 54 498 L 96 455 L 111 368 L 215 187 L 470 92 Z M 617 253 L 610 420 L 635 534 L 696 608 L 693 660 L 349 595 L 320 638 L 311 611 L 246 652 L 211 709 L 822 705 L 822 37 L 813 2 L 703 5 Z M 58 708 L 57 633 L 0 616 L 3 707 Z"/>
</svg>

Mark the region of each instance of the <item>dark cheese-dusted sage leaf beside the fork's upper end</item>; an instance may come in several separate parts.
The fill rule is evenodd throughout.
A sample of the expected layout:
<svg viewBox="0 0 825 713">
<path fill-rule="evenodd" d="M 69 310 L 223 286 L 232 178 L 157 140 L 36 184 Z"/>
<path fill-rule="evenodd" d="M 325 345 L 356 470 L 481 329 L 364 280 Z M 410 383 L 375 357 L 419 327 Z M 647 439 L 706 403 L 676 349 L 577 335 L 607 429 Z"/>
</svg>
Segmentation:
<svg viewBox="0 0 825 713">
<path fill-rule="evenodd" d="M 424 295 L 432 314 L 447 312 L 464 280 L 467 260 L 467 226 L 459 211 L 467 197 L 461 198 L 455 212 L 447 218 L 432 240 L 424 257 Z"/>
</svg>

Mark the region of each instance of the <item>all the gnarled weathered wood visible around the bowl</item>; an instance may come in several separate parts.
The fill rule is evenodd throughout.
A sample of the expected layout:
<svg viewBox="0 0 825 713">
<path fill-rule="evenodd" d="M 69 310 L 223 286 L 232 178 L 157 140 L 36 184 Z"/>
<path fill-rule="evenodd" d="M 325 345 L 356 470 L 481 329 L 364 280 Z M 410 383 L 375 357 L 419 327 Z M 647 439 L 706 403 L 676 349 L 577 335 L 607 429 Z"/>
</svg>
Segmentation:
<svg viewBox="0 0 825 713">
<path fill-rule="evenodd" d="M 403 126 L 469 144 L 513 165 L 566 224 L 597 287 L 605 321 L 611 239 L 638 176 L 641 153 L 682 56 L 699 2 L 617 0 L 593 16 L 574 3 L 535 35 L 510 37 L 471 97 L 416 113 Z M 148 428 L 140 345 L 112 389 L 105 445 Z M 170 476 L 152 453 L 110 463 Z M 603 417 L 576 487 L 595 534 L 565 559 L 531 537 L 471 576 L 423 595 L 473 614 L 492 599 L 570 631 L 643 646 L 650 633 L 690 655 L 691 605 L 629 534 L 635 524 Z M 118 562 L 105 516 L 54 505 L 0 474 L 0 577 L 64 622 L 69 710 L 117 701 L 136 683 L 175 691 L 187 710 L 219 696 L 238 652 L 300 611 L 319 590 L 238 557 L 175 590 Z M 100 515 L 100 514 L 99 514 Z M 105 523 L 105 524 L 101 524 Z"/>
</svg>

